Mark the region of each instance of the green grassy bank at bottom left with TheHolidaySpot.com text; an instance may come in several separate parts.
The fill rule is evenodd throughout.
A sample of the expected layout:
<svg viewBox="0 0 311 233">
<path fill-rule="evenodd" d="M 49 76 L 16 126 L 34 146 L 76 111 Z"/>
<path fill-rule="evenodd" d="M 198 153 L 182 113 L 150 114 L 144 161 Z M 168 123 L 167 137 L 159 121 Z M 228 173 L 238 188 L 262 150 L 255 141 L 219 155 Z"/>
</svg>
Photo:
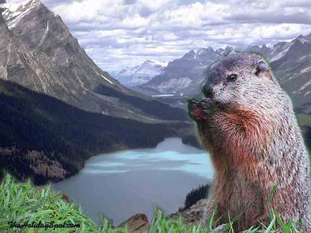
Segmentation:
<svg viewBox="0 0 311 233">
<path fill-rule="evenodd" d="M 73 228 L 40 228 L 39 232 L 124 232 L 123 229 L 115 230 L 106 219 L 102 226 L 97 227 L 88 216 L 73 203 L 67 203 L 62 196 L 56 194 L 49 187 L 41 190 L 32 186 L 31 181 L 18 183 L 12 176 L 6 174 L 0 185 L 0 232 L 21 232 L 21 229 L 10 229 L 8 222 L 15 220 L 17 223 L 41 222 L 43 225 L 50 222 L 57 224 L 79 224 Z M 35 228 L 23 229 L 24 232 L 36 232 Z"/>
</svg>

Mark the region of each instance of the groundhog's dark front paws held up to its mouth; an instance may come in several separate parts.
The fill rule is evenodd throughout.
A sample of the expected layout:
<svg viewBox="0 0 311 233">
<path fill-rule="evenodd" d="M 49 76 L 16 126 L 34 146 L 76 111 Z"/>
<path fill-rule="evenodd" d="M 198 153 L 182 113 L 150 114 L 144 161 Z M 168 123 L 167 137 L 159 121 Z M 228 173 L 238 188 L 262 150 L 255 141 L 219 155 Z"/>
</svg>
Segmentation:
<svg viewBox="0 0 311 233">
<path fill-rule="evenodd" d="M 205 121 L 211 110 L 211 101 L 207 99 L 189 99 L 188 100 L 188 114 L 194 121 Z"/>
</svg>

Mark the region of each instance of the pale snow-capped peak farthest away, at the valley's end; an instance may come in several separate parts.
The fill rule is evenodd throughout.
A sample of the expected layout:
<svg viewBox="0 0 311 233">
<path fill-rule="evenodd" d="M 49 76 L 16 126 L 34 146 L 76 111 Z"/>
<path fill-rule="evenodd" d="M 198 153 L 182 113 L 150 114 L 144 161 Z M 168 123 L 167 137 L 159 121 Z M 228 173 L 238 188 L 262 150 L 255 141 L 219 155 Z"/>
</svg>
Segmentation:
<svg viewBox="0 0 311 233">
<path fill-rule="evenodd" d="M 111 74 L 123 85 L 131 87 L 147 83 L 147 81 L 160 74 L 165 65 L 164 62 L 146 60 L 141 65 L 126 67 Z"/>
</svg>

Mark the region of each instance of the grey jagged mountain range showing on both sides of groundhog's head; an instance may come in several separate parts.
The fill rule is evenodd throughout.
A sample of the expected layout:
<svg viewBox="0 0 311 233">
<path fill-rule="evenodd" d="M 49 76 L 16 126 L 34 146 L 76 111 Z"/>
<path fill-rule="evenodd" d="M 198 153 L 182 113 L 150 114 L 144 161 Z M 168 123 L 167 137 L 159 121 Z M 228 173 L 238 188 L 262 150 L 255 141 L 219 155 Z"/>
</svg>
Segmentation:
<svg viewBox="0 0 311 233">
<path fill-rule="evenodd" d="M 300 35 L 290 42 L 276 43 L 271 48 L 253 45 L 245 50 L 263 55 L 296 108 L 304 106 L 311 112 L 311 33 L 305 37 Z M 135 87 L 135 90 L 151 95 L 175 93 L 191 97 L 200 92 L 200 85 L 206 79 L 204 70 L 231 51 L 231 47 L 191 50 L 170 61 L 160 74 Z"/>
</svg>

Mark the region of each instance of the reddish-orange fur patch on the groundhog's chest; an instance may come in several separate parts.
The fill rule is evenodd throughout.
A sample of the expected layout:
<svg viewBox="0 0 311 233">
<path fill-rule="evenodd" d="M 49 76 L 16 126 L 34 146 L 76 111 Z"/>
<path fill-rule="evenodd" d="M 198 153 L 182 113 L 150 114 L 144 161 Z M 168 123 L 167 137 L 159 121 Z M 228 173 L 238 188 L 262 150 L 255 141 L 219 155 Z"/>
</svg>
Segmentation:
<svg viewBox="0 0 311 233">
<path fill-rule="evenodd" d="M 209 124 L 209 150 L 216 170 L 232 167 L 249 172 L 256 167 L 270 141 L 270 123 L 255 112 L 235 109 L 217 112 Z"/>
</svg>

